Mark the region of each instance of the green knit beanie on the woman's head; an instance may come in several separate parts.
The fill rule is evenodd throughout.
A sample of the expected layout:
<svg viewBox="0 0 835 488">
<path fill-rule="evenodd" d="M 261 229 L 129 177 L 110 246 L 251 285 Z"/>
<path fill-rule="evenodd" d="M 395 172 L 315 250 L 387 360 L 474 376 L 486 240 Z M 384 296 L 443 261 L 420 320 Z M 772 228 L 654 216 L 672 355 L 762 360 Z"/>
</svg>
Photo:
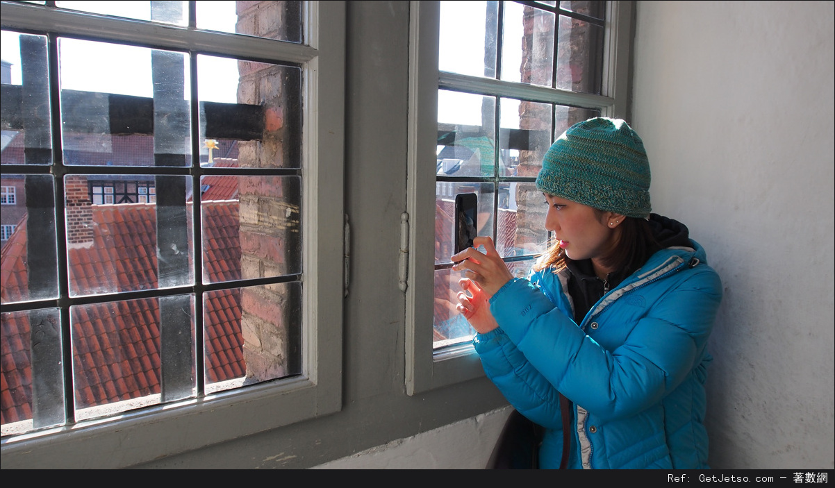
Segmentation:
<svg viewBox="0 0 835 488">
<path fill-rule="evenodd" d="M 619 118 L 575 123 L 551 145 L 536 188 L 627 217 L 650 214 L 650 161 L 644 143 Z"/>
</svg>

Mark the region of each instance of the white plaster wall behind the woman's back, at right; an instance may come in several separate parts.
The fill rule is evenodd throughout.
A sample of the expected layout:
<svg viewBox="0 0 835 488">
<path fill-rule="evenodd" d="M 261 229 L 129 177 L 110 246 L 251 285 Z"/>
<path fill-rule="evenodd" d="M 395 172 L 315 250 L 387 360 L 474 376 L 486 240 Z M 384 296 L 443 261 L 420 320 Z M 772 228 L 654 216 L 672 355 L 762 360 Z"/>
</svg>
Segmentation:
<svg viewBox="0 0 835 488">
<path fill-rule="evenodd" d="M 653 209 L 706 246 L 714 468 L 833 455 L 832 2 L 638 2 L 633 127 Z"/>
</svg>

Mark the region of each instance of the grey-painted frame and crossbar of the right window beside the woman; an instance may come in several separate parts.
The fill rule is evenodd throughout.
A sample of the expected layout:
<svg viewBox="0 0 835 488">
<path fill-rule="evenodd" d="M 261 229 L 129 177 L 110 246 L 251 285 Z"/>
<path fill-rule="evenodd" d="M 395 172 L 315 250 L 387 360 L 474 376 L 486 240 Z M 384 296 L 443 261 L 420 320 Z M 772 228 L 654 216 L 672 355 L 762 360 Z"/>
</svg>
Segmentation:
<svg viewBox="0 0 835 488">
<path fill-rule="evenodd" d="M 438 71 L 440 3 L 411 3 L 409 148 L 407 179 L 408 277 L 406 305 L 406 387 L 416 395 L 484 375 L 473 345 L 433 348 L 433 264 L 435 238 L 434 161 L 438 134 L 438 88 L 498 93 L 600 109 L 628 118 L 630 50 L 634 2 L 607 2 L 601 95 L 504 83 Z M 511 85 L 515 86 L 511 86 Z M 484 92 L 487 90 L 487 92 Z M 546 93 L 548 92 L 548 93 Z"/>
</svg>

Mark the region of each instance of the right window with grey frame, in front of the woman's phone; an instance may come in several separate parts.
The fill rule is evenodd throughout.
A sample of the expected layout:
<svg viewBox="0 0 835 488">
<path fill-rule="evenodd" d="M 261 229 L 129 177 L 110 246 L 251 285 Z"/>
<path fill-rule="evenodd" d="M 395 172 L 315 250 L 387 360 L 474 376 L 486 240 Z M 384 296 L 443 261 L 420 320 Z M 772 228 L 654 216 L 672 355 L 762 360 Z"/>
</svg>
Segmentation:
<svg viewBox="0 0 835 488">
<path fill-rule="evenodd" d="M 411 394 L 483 375 L 473 330 L 454 309 L 455 194 L 478 194 L 478 234 L 526 275 L 549 246 L 534 185 L 544 153 L 572 123 L 626 116 L 632 28 L 632 4 L 621 2 L 412 8 L 420 42 L 412 51 L 407 216 Z"/>
</svg>

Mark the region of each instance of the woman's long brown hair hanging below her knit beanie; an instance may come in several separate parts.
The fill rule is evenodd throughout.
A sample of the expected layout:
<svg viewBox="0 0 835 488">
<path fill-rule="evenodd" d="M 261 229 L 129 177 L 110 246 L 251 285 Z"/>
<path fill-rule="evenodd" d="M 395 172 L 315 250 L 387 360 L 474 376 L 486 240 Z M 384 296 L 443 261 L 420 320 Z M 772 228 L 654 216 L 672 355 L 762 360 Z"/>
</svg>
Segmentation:
<svg viewBox="0 0 835 488">
<path fill-rule="evenodd" d="M 595 209 L 595 213 L 602 214 L 602 211 Z M 640 268 L 650 256 L 659 249 L 650 229 L 650 223 L 646 219 L 626 217 L 618 226 L 620 229 L 618 242 L 608 256 L 601 259 L 601 264 L 615 272 L 626 270 L 629 273 Z M 565 250 L 559 247 L 559 242 L 554 243 L 546 250 L 542 258 L 534 264 L 534 271 L 541 271 L 549 266 L 554 266 L 554 273 L 558 273 L 567 266 L 570 258 L 565 255 Z"/>
</svg>

